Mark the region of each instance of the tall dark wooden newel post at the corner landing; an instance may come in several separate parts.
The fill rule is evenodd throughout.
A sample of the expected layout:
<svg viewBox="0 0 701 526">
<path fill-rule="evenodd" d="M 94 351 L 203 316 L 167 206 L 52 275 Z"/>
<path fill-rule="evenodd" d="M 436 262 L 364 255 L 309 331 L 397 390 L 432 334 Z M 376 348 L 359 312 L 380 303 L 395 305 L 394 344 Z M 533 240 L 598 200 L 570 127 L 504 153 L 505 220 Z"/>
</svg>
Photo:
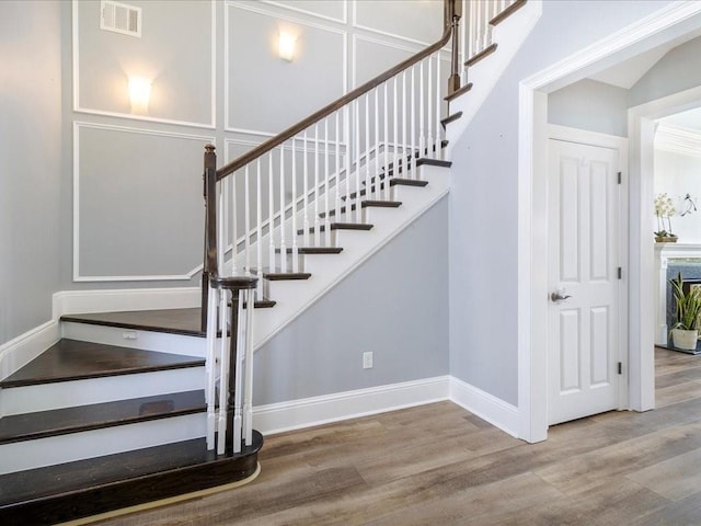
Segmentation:
<svg viewBox="0 0 701 526">
<path fill-rule="evenodd" d="M 209 279 L 218 276 L 217 268 L 217 155 L 215 146 L 205 146 L 205 169 L 203 172 L 203 196 L 205 199 L 205 253 L 202 271 L 202 318 L 200 328 L 207 330 L 207 306 Z"/>
</svg>

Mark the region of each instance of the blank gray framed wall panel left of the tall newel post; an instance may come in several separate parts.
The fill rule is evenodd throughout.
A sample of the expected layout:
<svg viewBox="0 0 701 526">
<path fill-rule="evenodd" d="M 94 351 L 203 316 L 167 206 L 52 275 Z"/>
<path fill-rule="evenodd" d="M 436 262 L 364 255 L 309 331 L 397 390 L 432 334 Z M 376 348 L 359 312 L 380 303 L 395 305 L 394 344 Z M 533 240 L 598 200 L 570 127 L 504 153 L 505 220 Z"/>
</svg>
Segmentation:
<svg viewBox="0 0 701 526">
<path fill-rule="evenodd" d="M 187 279 L 214 138 L 76 123 L 74 140 L 74 279 Z"/>
</svg>

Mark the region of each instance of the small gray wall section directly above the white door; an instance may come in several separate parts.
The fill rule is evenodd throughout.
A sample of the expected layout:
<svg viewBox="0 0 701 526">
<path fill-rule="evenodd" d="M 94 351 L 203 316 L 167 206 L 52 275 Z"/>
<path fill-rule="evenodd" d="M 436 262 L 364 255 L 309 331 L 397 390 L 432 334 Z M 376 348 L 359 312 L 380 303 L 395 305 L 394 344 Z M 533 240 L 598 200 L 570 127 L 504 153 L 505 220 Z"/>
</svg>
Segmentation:
<svg viewBox="0 0 701 526">
<path fill-rule="evenodd" d="M 628 137 L 628 90 L 583 79 L 548 95 L 548 122 Z"/>
</svg>

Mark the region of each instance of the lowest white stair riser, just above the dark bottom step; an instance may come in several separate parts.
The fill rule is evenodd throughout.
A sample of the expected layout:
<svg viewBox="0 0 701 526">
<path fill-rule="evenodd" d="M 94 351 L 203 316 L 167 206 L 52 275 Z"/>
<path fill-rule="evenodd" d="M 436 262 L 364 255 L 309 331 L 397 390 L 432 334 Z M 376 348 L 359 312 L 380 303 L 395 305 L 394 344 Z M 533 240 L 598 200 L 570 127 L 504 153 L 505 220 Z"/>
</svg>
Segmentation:
<svg viewBox="0 0 701 526">
<path fill-rule="evenodd" d="M 200 438 L 206 413 L 0 445 L 0 474 Z"/>
</svg>

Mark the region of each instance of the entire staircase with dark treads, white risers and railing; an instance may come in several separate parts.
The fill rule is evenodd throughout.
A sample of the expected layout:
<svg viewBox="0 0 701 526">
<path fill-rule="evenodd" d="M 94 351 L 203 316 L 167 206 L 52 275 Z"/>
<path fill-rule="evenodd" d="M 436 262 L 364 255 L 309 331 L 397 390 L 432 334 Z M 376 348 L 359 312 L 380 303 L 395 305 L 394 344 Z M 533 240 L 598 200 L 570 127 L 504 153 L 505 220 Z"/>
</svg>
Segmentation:
<svg viewBox="0 0 701 526">
<path fill-rule="evenodd" d="M 460 20 L 446 5 L 441 41 L 406 62 L 226 167 L 207 148 L 202 308 L 64 316 L 62 339 L 0 381 L 1 524 L 95 519 L 256 477 L 253 351 L 449 191 L 444 130 L 462 112 L 439 91 Z M 458 75 L 448 102 L 470 90 Z"/>
</svg>

